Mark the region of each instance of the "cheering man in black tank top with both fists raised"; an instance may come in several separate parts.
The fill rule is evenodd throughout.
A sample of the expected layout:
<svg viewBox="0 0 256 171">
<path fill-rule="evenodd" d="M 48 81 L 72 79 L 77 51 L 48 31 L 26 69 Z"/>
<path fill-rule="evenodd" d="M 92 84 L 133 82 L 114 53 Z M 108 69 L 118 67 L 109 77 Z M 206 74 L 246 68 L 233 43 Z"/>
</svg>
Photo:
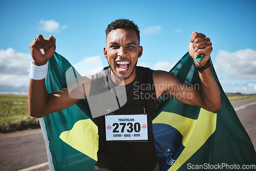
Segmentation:
<svg viewBox="0 0 256 171">
<path fill-rule="evenodd" d="M 39 51 L 44 48 L 45 54 Z M 30 44 L 33 63 L 32 74 L 29 84 L 28 102 L 30 115 L 33 117 L 44 117 L 53 112 L 68 108 L 77 103 L 79 99 L 70 96 L 68 89 L 58 90 L 48 94 L 45 86 L 46 65 L 56 49 L 55 38 L 42 37 L 38 35 Z M 177 100 L 195 106 L 200 106 L 208 111 L 216 111 L 221 108 L 219 88 L 209 69 L 210 53 L 212 51 L 210 39 L 197 32 L 192 33 L 188 46 L 191 57 L 195 60 L 197 56 L 204 54 L 204 58 L 195 62 L 196 68 L 200 68 L 200 89 L 184 88 L 184 83 L 174 75 L 165 71 L 153 71 L 148 68 L 137 67 L 138 58 L 142 55 L 143 48 L 140 46 L 140 36 L 137 25 L 127 19 L 118 19 L 112 22 L 106 29 L 106 47 L 103 48 L 104 56 L 108 60 L 109 67 L 104 68 L 87 81 L 85 91 L 95 95 L 102 89 L 113 89 L 123 79 L 127 94 L 127 101 L 120 109 L 113 111 L 114 117 L 122 114 L 134 117 L 144 114 L 146 125 L 146 138 L 137 141 L 127 139 L 109 140 L 106 134 L 106 123 L 109 123 L 108 113 L 106 116 L 97 117 L 99 149 L 98 161 L 95 170 L 154 170 L 157 169 L 157 157 L 155 152 L 154 135 L 152 131 L 152 116 L 154 115 L 157 100 L 163 93 L 175 97 Z M 38 67 L 39 66 L 39 67 Z M 96 85 L 94 80 L 102 77 L 102 85 Z M 96 85 L 96 86 L 95 86 Z M 148 89 L 143 85 L 153 85 Z M 139 87 L 139 89 L 137 89 Z M 193 87 L 186 85 L 186 87 Z M 140 96 L 150 93 L 150 98 Z M 90 98 L 84 91 L 76 94 Z M 182 97 L 176 95 L 182 94 Z M 190 98 L 186 98 L 186 97 Z M 120 123 L 117 123 L 119 125 Z M 129 124 L 129 123 L 125 123 Z M 113 124 L 114 126 L 114 124 Z M 130 125 L 131 126 L 131 125 Z M 135 127 L 130 127 L 132 132 Z M 140 129 L 140 127 L 137 127 Z"/>
</svg>

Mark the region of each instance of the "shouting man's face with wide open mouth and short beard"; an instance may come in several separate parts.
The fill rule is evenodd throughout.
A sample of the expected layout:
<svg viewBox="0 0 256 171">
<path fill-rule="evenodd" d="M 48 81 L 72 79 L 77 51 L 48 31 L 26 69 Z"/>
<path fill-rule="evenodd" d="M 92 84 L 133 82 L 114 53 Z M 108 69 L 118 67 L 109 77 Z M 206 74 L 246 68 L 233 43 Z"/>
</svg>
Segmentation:
<svg viewBox="0 0 256 171">
<path fill-rule="evenodd" d="M 125 84 L 132 82 L 136 76 L 137 60 L 142 55 L 136 32 L 131 29 L 112 30 L 106 37 L 103 50 L 112 72 L 124 79 Z"/>
</svg>

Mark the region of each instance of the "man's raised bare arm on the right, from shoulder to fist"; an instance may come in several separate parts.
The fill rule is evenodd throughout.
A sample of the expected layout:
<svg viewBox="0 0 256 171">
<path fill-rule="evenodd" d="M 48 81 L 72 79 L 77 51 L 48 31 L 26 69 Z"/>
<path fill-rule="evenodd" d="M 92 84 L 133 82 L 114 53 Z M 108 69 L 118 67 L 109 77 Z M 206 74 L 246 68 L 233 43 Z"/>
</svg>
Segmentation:
<svg viewBox="0 0 256 171">
<path fill-rule="evenodd" d="M 200 106 L 207 111 L 217 111 L 221 109 L 220 91 L 209 68 L 211 51 L 210 39 L 204 34 L 193 32 L 189 41 L 189 55 L 193 57 L 195 61 L 197 56 L 204 54 L 202 60 L 195 62 L 195 67 L 202 70 L 199 71 L 199 77 L 201 79 L 200 88 L 195 89 L 192 84 L 185 85 L 185 83 L 171 73 L 154 71 L 153 79 L 157 98 L 162 93 L 168 93 L 183 103 Z M 164 83 L 164 87 L 161 87 L 161 83 Z M 178 98 L 178 94 L 182 94 L 182 96 Z M 189 98 L 187 98 L 188 96 Z"/>
</svg>

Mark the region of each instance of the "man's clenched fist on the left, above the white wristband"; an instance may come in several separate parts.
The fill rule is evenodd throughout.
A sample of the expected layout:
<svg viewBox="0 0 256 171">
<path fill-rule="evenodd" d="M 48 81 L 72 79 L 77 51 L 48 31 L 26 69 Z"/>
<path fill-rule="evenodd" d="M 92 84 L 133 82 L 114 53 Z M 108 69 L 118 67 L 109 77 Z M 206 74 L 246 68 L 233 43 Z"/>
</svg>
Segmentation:
<svg viewBox="0 0 256 171">
<path fill-rule="evenodd" d="M 49 37 L 42 37 L 38 35 L 30 44 L 30 51 L 33 58 L 33 63 L 36 66 L 45 65 L 50 59 L 56 49 L 55 38 L 51 35 Z M 44 49 L 45 54 L 42 55 L 39 49 Z"/>
</svg>

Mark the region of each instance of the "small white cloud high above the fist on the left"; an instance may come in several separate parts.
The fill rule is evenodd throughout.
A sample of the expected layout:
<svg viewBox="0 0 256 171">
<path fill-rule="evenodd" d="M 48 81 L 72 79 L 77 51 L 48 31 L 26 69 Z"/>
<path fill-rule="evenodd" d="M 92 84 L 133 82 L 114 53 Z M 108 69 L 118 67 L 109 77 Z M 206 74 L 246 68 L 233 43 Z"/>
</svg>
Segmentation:
<svg viewBox="0 0 256 171">
<path fill-rule="evenodd" d="M 59 25 L 59 23 L 55 22 L 55 20 L 44 20 L 41 19 L 39 22 L 39 26 L 40 26 L 40 30 L 44 30 L 46 32 L 49 33 L 53 33 L 53 32 L 59 32 L 59 29 L 67 29 L 67 26 L 61 26 Z"/>
</svg>

